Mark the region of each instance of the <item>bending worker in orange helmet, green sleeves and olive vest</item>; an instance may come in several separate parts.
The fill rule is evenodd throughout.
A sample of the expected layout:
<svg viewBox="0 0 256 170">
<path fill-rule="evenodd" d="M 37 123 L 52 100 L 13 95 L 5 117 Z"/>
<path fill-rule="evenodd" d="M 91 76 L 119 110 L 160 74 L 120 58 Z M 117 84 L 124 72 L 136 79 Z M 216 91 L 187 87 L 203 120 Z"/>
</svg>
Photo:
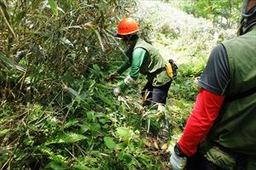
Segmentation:
<svg viewBox="0 0 256 170">
<path fill-rule="evenodd" d="M 128 68 L 131 68 L 124 82 L 114 88 L 113 94 L 119 96 L 124 93 L 126 88 L 137 81 L 137 77 L 141 73 L 148 79 L 142 92 L 143 96 L 147 96 L 144 104 L 165 105 L 172 79 L 177 73 L 177 65 L 173 61 L 171 65 L 151 44 L 138 37 L 138 31 L 137 21 L 132 18 L 125 18 L 119 22 L 115 36 L 121 38 L 128 47 L 125 52 L 127 61 L 118 71 L 108 77 L 108 81 L 113 81 Z"/>
</svg>

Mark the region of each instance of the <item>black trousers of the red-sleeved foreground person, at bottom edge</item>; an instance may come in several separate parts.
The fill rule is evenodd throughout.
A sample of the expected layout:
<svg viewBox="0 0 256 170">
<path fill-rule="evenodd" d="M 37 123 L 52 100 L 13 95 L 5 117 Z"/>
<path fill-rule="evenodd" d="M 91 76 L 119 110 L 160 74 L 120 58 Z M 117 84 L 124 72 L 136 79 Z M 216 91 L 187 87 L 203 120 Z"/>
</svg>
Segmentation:
<svg viewBox="0 0 256 170">
<path fill-rule="evenodd" d="M 224 170 L 218 167 L 211 161 L 208 161 L 205 156 L 200 153 L 195 153 L 194 156 L 188 158 L 186 170 Z"/>
</svg>

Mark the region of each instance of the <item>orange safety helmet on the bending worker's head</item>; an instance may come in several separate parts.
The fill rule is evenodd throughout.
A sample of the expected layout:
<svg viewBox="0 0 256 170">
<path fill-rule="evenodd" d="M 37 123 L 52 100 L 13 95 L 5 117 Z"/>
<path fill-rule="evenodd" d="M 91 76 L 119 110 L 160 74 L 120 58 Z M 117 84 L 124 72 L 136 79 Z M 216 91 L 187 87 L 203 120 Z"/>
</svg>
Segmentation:
<svg viewBox="0 0 256 170">
<path fill-rule="evenodd" d="M 125 18 L 119 22 L 117 34 L 121 36 L 129 35 L 139 31 L 136 20 Z"/>
</svg>

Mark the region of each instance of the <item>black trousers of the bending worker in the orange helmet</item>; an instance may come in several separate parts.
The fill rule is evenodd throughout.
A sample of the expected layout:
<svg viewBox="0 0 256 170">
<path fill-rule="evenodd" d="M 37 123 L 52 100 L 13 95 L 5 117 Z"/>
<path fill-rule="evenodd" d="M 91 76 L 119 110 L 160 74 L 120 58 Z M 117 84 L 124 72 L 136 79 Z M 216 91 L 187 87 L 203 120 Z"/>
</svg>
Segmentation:
<svg viewBox="0 0 256 170">
<path fill-rule="evenodd" d="M 148 91 L 147 100 L 150 104 L 160 103 L 160 104 L 166 104 L 166 98 L 168 94 L 168 90 L 171 87 L 171 83 L 167 82 L 165 85 L 160 87 L 153 86 L 150 82 L 147 82 L 145 87 L 143 88 L 142 95 L 145 95 L 146 91 Z"/>
</svg>

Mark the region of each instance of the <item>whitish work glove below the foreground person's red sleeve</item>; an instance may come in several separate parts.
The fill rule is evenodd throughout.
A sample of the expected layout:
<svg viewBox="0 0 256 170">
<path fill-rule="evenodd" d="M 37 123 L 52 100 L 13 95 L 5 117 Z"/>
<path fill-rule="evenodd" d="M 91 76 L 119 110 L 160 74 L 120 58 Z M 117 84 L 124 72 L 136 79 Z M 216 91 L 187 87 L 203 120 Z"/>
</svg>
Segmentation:
<svg viewBox="0 0 256 170">
<path fill-rule="evenodd" d="M 180 157 L 173 151 L 172 156 L 170 157 L 170 164 L 172 170 L 183 170 L 186 167 L 188 158 Z"/>
</svg>

